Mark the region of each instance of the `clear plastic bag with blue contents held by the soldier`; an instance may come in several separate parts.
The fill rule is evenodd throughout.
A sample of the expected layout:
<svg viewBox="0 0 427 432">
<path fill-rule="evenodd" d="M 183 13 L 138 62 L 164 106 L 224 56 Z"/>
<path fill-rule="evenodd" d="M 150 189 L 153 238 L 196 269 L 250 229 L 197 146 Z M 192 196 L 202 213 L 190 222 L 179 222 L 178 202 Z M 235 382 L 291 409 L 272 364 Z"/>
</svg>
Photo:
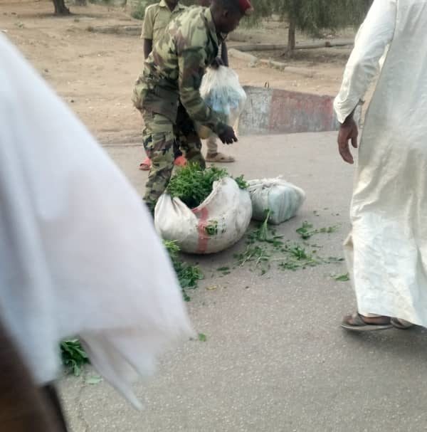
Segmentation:
<svg viewBox="0 0 427 432">
<path fill-rule="evenodd" d="M 236 123 L 246 103 L 246 93 L 238 81 L 237 73 L 226 66 L 206 71 L 200 94 L 206 104 L 230 126 Z"/>
</svg>

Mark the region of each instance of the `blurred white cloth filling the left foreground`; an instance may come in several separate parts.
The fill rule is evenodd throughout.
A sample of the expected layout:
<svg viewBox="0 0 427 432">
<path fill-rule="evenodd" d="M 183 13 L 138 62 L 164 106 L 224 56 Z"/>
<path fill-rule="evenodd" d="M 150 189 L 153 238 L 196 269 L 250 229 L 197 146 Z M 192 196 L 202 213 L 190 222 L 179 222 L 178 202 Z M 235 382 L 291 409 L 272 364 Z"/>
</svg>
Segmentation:
<svg viewBox="0 0 427 432">
<path fill-rule="evenodd" d="M 142 199 L 0 36 L 0 313 L 38 384 L 78 336 L 135 406 L 132 381 L 191 326 Z"/>
</svg>

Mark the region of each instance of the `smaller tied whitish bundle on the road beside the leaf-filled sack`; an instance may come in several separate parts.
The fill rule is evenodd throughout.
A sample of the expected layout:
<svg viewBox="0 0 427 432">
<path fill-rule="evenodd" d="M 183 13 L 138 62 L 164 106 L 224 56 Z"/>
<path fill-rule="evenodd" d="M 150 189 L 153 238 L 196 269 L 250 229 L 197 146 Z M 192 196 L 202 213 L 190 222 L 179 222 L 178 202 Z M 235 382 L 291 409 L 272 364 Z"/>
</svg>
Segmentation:
<svg viewBox="0 0 427 432">
<path fill-rule="evenodd" d="M 248 181 L 255 221 L 265 220 L 270 210 L 269 223 L 278 225 L 295 216 L 305 200 L 305 192 L 280 177 Z"/>
</svg>

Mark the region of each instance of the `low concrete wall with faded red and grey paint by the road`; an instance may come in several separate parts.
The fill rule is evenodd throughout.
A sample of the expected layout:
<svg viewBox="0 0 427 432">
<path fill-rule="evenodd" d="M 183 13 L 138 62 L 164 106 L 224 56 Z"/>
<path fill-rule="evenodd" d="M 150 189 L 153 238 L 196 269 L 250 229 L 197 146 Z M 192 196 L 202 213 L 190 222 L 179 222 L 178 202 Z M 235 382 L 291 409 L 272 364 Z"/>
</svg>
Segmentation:
<svg viewBox="0 0 427 432">
<path fill-rule="evenodd" d="M 245 91 L 248 100 L 238 124 L 240 135 L 338 130 L 331 96 L 251 86 Z"/>
</svg>

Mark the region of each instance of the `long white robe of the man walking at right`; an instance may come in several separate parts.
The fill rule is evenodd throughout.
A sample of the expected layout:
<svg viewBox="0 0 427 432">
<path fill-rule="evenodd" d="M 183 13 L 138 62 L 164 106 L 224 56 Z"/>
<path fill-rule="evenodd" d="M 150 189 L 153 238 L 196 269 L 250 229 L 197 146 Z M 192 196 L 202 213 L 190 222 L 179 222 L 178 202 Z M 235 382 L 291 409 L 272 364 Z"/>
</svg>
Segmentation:
<svg viewBox="0 0 427 432">
<path fill-rule="evenodd" d="M 340 122 L 386 52 L 359 147 L 347 260 L 359 312 L 427 326 L 427 2 L 374 0 L 334 107 Z"/>
</svg>

